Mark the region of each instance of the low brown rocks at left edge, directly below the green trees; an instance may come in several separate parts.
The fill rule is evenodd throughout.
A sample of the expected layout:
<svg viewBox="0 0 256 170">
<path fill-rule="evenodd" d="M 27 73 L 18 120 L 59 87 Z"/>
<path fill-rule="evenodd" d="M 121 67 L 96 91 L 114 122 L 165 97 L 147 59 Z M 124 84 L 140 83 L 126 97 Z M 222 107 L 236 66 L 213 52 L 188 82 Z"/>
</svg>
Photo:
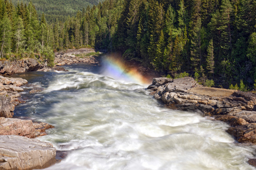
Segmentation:
<svg viewBox="0 0 256 170">
<path fill-rule="evenodd" d="M 13 73 L 24 73 L 29 71 L 37 71 L 45 67 L 38 63 L 33 58 L 20 61 L 2 61 L 0 62 L 0 73 L 2 74 L 13 74 Z"/>
</svg>

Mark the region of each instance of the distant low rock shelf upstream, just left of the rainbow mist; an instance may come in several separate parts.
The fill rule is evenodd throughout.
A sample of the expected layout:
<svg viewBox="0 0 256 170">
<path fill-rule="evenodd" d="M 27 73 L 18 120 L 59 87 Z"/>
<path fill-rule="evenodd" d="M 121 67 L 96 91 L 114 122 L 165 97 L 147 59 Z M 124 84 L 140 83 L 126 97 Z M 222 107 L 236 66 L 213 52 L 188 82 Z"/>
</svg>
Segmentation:
<svg viewBox="0 0 256 170">
<path fill-rule="evenodd" d="M 67 52 L 56 53 L 54 62 L 58 66 L 74 63 L 98 64 L 99 61 L 94 56 L 86 56 L 89 53 L 95 53 L 95 50 L 92 48 L 69 49 Z"/>
</svg>

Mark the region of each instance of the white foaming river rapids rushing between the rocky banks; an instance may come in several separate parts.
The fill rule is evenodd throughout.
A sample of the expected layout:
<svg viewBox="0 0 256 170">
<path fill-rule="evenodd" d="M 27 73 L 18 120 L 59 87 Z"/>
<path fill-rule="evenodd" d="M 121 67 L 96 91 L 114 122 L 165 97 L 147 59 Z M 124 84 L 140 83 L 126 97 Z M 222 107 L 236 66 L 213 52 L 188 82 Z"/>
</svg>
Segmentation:
<svg viewBox="0 0 256 170">
<path fill-rule="evenodd" d="M 254 169 L 247 160 L 255 148 L 236 143 L 227 124 L 167 109 L 147 86 L 98 66 L 66 69 L 19 75 L 45 90 L 28 94 L 27 86 L 15 114 L 54 125 L 38 139 L 69 151 L 46 169 Z"/>
</svg>

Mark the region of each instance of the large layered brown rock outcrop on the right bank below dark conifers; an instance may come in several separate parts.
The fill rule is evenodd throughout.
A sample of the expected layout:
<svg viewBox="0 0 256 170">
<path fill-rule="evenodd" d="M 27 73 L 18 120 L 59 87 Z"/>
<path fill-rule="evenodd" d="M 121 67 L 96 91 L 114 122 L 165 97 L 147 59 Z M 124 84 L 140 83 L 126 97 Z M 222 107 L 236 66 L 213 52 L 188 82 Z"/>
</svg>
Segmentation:
<svg viewBox="0 0 256 170">
<path fill-rule="evenodd" d="M 238 142 L 256 144 L 256 95 L 250 92 L 208 88 L 190 77 L 153 79 L 148 89 L 167 107 L 201 112 L 230 124 L 228 133 Z"/>
</svg>

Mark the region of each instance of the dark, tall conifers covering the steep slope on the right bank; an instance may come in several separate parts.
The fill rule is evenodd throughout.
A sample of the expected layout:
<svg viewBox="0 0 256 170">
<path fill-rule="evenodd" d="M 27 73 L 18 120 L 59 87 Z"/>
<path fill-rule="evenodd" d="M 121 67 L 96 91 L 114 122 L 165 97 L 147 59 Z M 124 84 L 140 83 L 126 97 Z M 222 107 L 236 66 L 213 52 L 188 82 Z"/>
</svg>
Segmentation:
<svg viewBox="0 0 256 170">
<path fill-rule="evenodd" d="M 115 49 L 158 71 L 194 71 L 203 83 L 207 75 L 253 84 L 255 9 L 254 0 L 125 1 Z"/>
</svg>

